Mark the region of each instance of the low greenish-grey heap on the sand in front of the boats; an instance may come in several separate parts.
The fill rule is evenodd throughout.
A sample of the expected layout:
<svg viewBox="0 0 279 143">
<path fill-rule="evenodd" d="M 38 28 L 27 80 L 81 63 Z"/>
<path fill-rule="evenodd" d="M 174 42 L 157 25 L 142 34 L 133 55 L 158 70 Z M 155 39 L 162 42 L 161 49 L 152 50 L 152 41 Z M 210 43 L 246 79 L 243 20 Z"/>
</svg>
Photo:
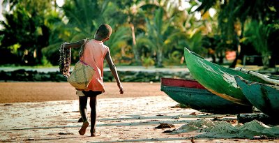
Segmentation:
<svg viewBox="0 0 279 143">
<path fill-rule="evenodd" d="M 197 132 L 197 138 L 255 138 L 264 135 L 265 137 L 279 137 L 279 126 L 266 126 L 264 123 L 254 120 L 243 125 L 232 126 L 226 121 L 211 121 L 209 119 L 199 119 L 181 126 L 177 133 Z"/>
</svg>

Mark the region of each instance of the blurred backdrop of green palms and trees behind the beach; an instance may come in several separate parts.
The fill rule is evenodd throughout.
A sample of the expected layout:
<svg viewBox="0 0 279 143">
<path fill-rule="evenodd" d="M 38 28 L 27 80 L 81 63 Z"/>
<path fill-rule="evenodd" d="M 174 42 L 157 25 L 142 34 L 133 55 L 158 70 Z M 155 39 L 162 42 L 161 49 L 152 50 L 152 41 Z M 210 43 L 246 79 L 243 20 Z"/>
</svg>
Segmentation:
<svg viewBox="0 0 279 143">
<path fill-rule="evenodd" d="M 59 46 L 110 24 L 119 66 L 184 66 L 183 48 L 234 68 L 279 63 L 279 1 L 0 0 L 0 66 L 57 66 Z M 72 50 L 78 60 L 79 50 Z"/>
</svg>

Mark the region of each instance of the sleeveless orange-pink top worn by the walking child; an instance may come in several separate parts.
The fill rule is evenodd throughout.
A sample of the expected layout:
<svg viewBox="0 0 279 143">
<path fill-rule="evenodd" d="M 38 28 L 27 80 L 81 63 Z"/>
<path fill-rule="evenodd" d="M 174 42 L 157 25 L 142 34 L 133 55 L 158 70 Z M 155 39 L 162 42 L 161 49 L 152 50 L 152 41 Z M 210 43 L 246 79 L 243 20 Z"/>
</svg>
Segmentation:
<svg viewBox="0 0 279 143">
<path fill-rule="evenodd" d="M 102 41 L 92 39 L 86 43 L 83 56 L 80 59 L 96 70 L 96 73 L 93 75 L 89 86 L 84 91 L 91 90 L 105 92 L 103 69 L 105 55 L 108 51 L 109 47 L 104 45 Z"/>
</svg>

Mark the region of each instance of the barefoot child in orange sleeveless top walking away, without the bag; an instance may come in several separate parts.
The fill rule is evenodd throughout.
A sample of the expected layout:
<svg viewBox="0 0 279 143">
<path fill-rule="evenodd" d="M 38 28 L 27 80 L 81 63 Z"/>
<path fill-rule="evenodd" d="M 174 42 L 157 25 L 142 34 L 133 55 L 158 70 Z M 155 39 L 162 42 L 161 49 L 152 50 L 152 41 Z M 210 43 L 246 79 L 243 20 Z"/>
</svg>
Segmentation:
<svg viewBox="0 0 279 143">
<path fill-rule="evenodd" d="M 117 86 L 119 87 L 119 93 L 123 94 L 123 87 L 119 80 L 119 76 L 117 74 L 116 66 L 112 61 L 112 57 L 110 56 L 110 49 L 103 43 L 106 40 L 110 39 L 110 35 L 112 34 L 112 27 L 108 24 L 100 24 L 98 27 L 94 39 L 92 40 L 80 40 L 75 43 L 65 43 L 64 47 L 81 47 L 84 45 L 84 52 L 80 55 L 80 60 L 87 63 L 91 66 L 96 73 L 93 75 L 89 86 L 84 91 L 77 91 L 77 95 L 79 96 L 80 101 L 80 114 L 82 116 L 83 124 L 82 128 L 80 128 L 80 135 L 84 135 L 86 132 L 86 128 L 89 126 L 89 119 L 87 116 L 87 98 L 90 97 L 90 107 L 91 107 L 91 137 L 96 136 L 96 103 L 97 96 L 103 92 L 105 92 L 105 86 L 103 83 L 103 61 L 107 60 L 108 65 L 110 66 L 110 70 L 112 71 L 112 75 L 117 82 Z"/>
</svg>

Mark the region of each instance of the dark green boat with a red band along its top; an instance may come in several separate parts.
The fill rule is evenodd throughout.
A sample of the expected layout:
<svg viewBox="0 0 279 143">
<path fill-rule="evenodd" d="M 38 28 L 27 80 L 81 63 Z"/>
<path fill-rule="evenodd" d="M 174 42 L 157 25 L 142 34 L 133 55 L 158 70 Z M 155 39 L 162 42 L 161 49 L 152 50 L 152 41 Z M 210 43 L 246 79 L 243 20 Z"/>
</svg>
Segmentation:
<svg viewBox="0 0 279 143">
<path fill-rule="evenodd" d="M 239 114 L 252 112 L 252 106 L 240 105 L 209 92 L 195 80 L 161 78 L 161 91 L 175 100 L 200 112 Z"/>
</svg>

